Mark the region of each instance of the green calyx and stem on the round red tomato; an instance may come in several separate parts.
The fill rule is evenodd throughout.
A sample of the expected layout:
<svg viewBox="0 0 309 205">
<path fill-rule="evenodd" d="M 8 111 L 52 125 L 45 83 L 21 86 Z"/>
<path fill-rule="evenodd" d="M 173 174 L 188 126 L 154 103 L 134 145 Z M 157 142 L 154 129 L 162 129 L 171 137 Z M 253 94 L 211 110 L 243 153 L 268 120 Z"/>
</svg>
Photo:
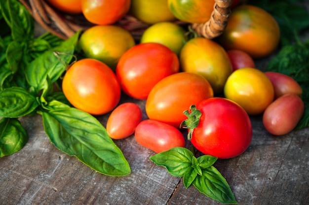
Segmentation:
<svg viewBox="0 0 309 205">
<path fill-rule="evenodd" d="M 191 112 L 185 110 L 184 114 L 188 117 L 180 124 L 180 128 L 189 129 L 188 140 L 192 138 L 193 130 L 198 126 L 199 118 L 202 116 L 201 111 L 196 109 L 196 106 L 193 104 L 190 106 Z"/>
</svg>

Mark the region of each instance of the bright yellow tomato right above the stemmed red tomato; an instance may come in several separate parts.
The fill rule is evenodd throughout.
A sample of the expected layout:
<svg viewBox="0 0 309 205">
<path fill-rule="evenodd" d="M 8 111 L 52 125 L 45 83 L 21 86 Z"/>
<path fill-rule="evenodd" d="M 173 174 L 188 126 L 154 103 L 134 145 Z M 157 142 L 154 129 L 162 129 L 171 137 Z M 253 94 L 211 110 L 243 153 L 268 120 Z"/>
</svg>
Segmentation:
<svg viewBox="0 0 309 205">
<path fill-rule="evenodd" d="M 232 72 L 225 84 L 224 95 L 242 106 L 249 115 L 261 114 L 274 99 L 270 80 L 257 68 Z"/>
</svg>

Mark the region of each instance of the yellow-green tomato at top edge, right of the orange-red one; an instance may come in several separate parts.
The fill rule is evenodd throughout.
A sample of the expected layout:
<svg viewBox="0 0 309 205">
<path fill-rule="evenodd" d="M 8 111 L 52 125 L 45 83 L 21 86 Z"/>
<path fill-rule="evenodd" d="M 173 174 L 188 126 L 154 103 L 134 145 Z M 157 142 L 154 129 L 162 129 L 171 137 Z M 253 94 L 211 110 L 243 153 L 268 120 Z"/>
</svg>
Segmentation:
<svg viewBox="0 0 309 205">
<path fill-rule="evenodd" d="M 176 20 L 167 0 L 131 0 L 129 14 L 146 24 Z"/>
</svg>

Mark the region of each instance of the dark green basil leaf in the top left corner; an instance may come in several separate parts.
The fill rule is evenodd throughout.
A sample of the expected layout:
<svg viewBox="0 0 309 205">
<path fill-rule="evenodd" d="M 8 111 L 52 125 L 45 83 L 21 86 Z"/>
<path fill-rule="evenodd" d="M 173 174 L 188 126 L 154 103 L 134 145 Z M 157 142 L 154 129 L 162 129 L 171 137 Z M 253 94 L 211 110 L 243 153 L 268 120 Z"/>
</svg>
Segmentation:
<svg viewBox="0 0 309 205">
<path fill-rule="evenodd" d="M 18 0 L 1 0 L 2 15 L 15 40 L 28 40 L 34 37 L 35 21 L 27 8 Z"/>
</svg>

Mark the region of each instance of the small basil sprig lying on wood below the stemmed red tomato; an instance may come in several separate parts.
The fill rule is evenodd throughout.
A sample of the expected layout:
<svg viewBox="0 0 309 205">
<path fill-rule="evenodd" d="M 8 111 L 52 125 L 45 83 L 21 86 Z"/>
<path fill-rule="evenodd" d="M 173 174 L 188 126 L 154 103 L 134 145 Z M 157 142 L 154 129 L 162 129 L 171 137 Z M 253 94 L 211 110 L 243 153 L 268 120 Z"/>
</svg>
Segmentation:
<svg viewBox="0 0 309 205">
<path fill-rule="evenodd" d="M 218 158 L 203 155 L 198 158 L 183 147 L 171 148 L 150 159 L 158 166 L 165 167 L 173 176 L 183 177 L 186 188 L 193 186 L 202 194 L 222 204 L 237 204 L 230 185 L 213 166 Z"/>
</svg>

